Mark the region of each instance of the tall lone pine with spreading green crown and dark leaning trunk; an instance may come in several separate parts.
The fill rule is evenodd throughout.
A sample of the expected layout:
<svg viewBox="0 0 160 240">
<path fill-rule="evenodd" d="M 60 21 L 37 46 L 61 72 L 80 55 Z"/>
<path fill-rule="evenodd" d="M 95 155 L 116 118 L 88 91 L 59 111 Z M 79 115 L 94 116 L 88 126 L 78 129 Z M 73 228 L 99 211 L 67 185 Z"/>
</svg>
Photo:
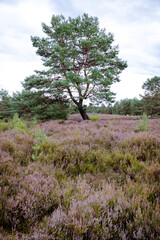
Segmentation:
<svg viewBox="0 0 160 240">
<path fill-rule="evenodd" d="M 42 23 L 42 28 L 47 37 L 31 40 L 46 70 L 27 77 L 25 90 L 43 92 L 50 98 L 67 93 L 82 118 L 88 119 L 83 101 L 112 101 L 110 86 L 127 67 L 118 58 L 118 46 L 112 46 L 113 35 L 99 28 L 98 18 L 87 14 L 67 20 L 53 15 L 51 26 Z"/>
</svg>

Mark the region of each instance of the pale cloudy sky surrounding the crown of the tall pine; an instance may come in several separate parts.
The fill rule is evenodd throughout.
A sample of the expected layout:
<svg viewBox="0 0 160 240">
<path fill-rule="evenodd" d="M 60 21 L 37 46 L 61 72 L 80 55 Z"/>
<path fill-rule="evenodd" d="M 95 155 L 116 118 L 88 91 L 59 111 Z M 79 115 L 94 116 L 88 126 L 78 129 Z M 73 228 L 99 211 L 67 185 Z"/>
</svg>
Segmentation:
<svg viewBox="0 0 160 240">
<path fill-rule="evenodd" d="M 142 85 L 160 76 L 160 0 L 0 0 L 0 89 L 12 94 L 34 70 L 44 69 L 31 36 L 44 36 L 52 15 L 96 16 L 114 35 L 128 68 L 112 85 L 116 100 L 139 98 Z"/>
</svg>

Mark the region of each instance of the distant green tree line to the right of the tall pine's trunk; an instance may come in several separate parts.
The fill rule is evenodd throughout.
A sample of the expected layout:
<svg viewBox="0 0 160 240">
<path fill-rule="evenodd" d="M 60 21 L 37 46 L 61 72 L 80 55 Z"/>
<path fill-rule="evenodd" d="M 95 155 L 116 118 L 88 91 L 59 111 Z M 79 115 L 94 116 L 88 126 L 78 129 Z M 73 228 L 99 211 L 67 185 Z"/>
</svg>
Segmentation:
<svg viewBox="0 0 160 240">
<path fill-rule="evenodd" d="M 151 117 L 160 116 L 160 77 L 147 79 L 142 88 L 145 90 L 141 99 L 123 99 L 114 103 L 114 105 L 94 106 L 89 104 L 88 112 L 118 114 L 118 115 L 142 115 L 146 113 Z"/>
</svg>

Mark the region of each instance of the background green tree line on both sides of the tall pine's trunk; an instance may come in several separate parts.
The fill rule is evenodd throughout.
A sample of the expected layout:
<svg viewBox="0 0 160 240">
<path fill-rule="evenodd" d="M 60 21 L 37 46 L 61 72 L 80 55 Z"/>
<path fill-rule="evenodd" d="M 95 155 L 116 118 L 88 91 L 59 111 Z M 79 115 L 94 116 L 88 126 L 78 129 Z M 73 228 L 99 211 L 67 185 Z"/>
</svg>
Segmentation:
<svg viewBox="0 0 160 240">
<path fill-rule="evenodd" d="M 90 103 L 84 106 L 88 113 L 118 114 L 138 116 L 146 113 L 151 117 L 160 117 L 160 77 L 147 79 L 142 88 L 145 90 L 141 99 L 123 99 L 114 105 L 105 106 Z M 0 119 L 19 117 L 45 121 L 50 119 L 67 119 L 69 114 L 78 112 L 73 102 L 65 97 L 47 95 L 45 92 L 23 90 L 10 96 L 6 90 L 0 90 Z"/>
</svg>

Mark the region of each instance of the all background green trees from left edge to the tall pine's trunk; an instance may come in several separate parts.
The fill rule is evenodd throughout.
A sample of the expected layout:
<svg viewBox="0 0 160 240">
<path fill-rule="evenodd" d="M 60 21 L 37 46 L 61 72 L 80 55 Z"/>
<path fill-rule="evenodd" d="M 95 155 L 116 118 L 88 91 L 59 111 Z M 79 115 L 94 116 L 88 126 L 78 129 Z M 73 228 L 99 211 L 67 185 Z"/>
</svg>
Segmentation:
<svg viewBox="0 0 160 240">
<path fill-rule="evenodd" d="M 51 98 L 42 92 L 23 90 L 10 96 L 6 90 L 0 90 L 0 119 L 19 117 L 45 121 L 67 119 L 69 103 L 65 98 Z"/>
</svg>

